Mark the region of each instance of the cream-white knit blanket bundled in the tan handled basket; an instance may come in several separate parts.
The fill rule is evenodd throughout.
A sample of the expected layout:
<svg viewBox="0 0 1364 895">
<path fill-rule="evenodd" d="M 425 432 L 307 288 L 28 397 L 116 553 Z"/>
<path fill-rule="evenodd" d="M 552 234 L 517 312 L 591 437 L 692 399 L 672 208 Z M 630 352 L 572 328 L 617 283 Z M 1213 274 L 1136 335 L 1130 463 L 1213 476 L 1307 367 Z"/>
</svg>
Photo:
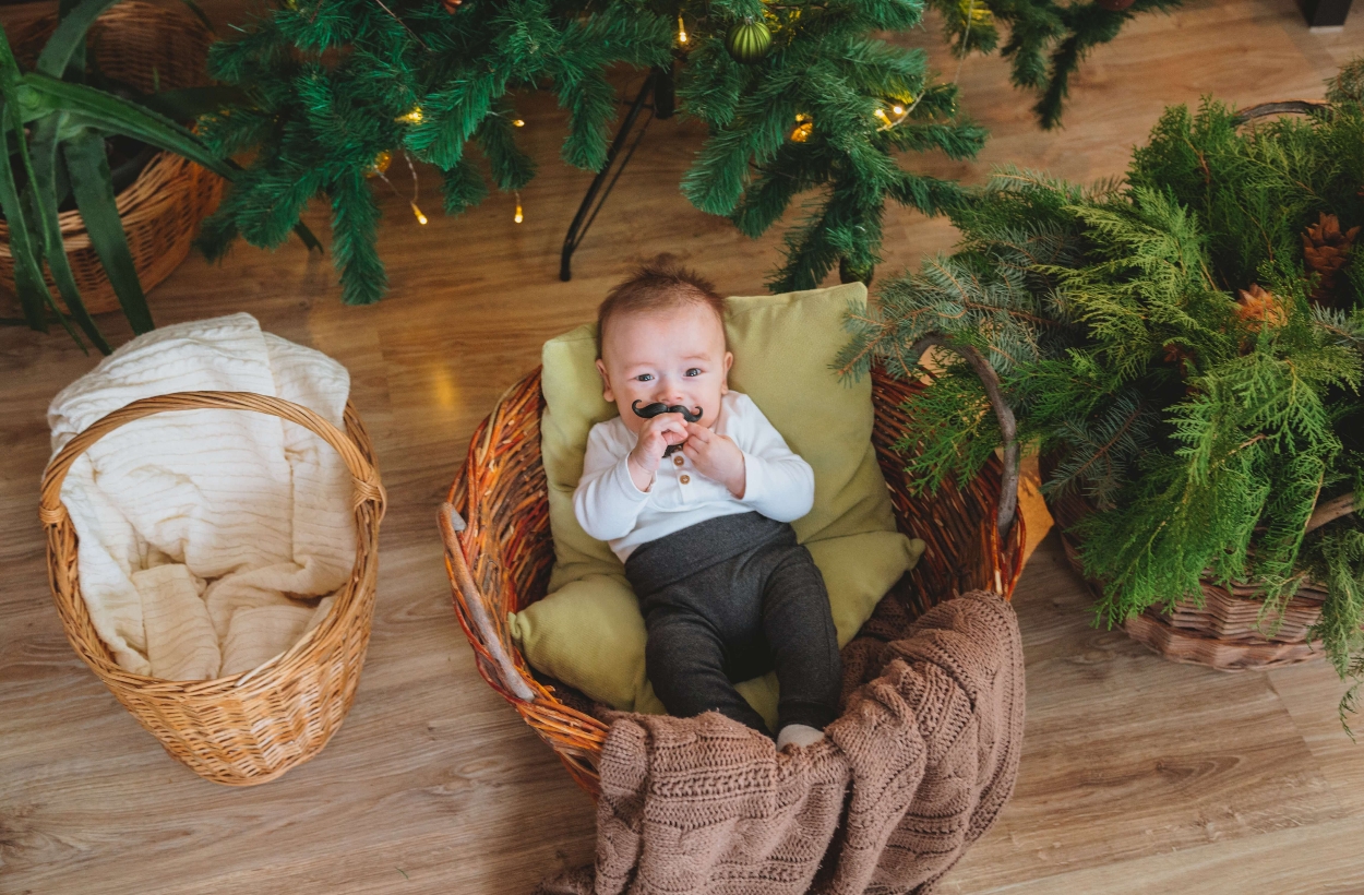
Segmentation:
<svg viewBox="0 0 1364 895">
<path fill-rule="evenodd" d="M 166 326 L 53 398 L 53 454 L 110 411 L 172 392 L 269 394 L 341 427 L 351 377 L 250 314 Z M 95 630 L 128 671 L 172 681 L 280 655 L 349 577 L 351 493 L 340 456 L 276 416 L 180 411 L 105 435 L 61 487 Z"/>
</svg>

